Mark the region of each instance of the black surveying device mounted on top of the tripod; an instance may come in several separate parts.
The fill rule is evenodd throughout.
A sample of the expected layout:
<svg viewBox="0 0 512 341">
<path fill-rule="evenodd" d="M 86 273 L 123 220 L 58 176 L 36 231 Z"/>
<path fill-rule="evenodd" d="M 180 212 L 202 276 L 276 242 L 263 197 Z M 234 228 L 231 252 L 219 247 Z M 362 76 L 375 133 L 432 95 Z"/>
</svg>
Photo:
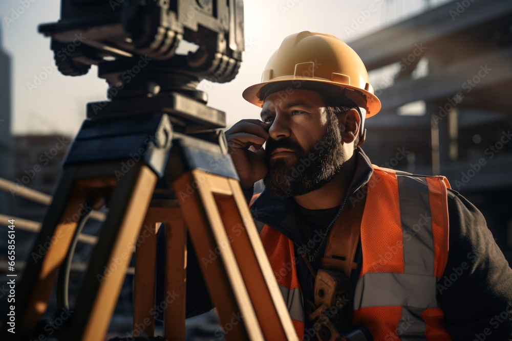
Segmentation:
<svg viewBox="0 0 512 341">
<path fill-rule="evenodd" d="M 206 94 L 196 89 L 201 79 L 224 83 L 237 75 L 244 49 L 243 2 L 62 0 L 60 20 L 40 25 L 39 32 L 52 37 L 63 75 L 84 75 L 96 64 L 98 76 L 109 83 L 112 102 L 90 103 L 89 118 L 97 118 L 99 111 L 103 117 L 143 113 L 144 107 L 151 109 L 147 113 L 172 113 L 166 107 L 174 103 L 173 94 L 205 104 Z M 197 44 L 197 51 L 177 55 L 181 40 Z M 142 100 L 138 105 L 112 105 L 137 98 Z M 191 111 L 173 115 L 173 125 L 183 131 L 225 126 L 220 111 L 207 122 L 194 120 Z"/>
</svg>

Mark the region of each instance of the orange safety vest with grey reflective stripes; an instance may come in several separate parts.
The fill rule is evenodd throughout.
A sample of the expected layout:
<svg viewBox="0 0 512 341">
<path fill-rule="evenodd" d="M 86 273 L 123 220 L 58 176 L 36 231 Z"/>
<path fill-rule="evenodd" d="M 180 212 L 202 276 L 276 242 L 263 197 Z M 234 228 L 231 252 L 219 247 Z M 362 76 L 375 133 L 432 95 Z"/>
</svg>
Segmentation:
<svg viewBox="0 0 512 341">
<path fill-rule="evenodd" d="M 448 257 L 450 184 L 443 176 L 372 167 L 361 219 L 362 267 L 354 291 L 354 325 L 366 326 L 374 340 L 451 340 L 436 299 Z M 263 225 L 263 246 L 303 339 L 304 304 L 293 242 L 266 224 L 258 225 Z"/>
</svg>

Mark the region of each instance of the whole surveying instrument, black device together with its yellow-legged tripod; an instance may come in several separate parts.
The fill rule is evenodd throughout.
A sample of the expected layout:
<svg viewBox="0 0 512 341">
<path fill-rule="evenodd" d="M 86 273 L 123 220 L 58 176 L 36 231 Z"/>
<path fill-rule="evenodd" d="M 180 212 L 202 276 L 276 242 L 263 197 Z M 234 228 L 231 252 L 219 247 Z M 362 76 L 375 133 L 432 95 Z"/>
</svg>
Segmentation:
<svg viewBox="0 0 512 341">
<path fill-rule="evenodd" d="M 62 0 L 60 20 L 39 31 L 51 36 L 62 74 L 98 65 L 110 101 L 87 106 L 32 251 L 52 243 L 40 259 L 29 257 L 17 285 L 16 333 L 5 323 L 0 339 L 37 339 L 34 330 L 90 213 L 73 219 L 85 205 L 109 211 L 59 340 L 105 339 L 143 225 L 151 233 L 135 250 L 133 322 L 148 335 L 140 339 L 154 337 L 156 233 L 165 226 L 164 290 L 177 298 L 164 312 L 164 339 L 185 339 L 188 230 L 198 259 L 222 246 L 215 261 L 200 266 L 221 324 L 243 316 L 226 339 L 296 340 L 218 130 L 225 114 L 208 107 L 196 88 L 204 78 L 223 83 L 236 76 L 242 0 Z M 181 40 L 198 50 L 175 54 Z"/>
</svg>

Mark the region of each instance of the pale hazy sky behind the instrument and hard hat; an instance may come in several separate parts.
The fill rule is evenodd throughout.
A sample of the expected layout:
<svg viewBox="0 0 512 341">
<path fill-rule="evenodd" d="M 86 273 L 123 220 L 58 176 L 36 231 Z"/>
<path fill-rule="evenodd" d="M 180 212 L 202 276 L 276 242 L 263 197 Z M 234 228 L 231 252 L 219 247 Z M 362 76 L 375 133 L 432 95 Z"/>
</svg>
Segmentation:
<svg viewBox="0 0 512 341">
<path fill-rule="evenodd" d="M 431 6 L 445 2 L 430 1 Z M 22 11 L 22 3 L 30 6 Z M 377 11 L 349 34 L 347 28 L 352 20 L 371 5 Z M 333 34 L 350 42 L 383 25 L 417 14 L 424 7 L 424 0 L 246 0 L 246 51 L 242 67 L 233 81 L 207 86 L 208 105 L 226 111 L 228 126 L 244 118 L 257 118 L 258 108 L 242 98 L 242 91 L 260 81 L 268 58 L 284 37 L 309 30 Z M 21 14 L 16 16 L 16 12 Z M 50 38 L 37 33 L 37 26 L 57 21 L 59 12 L 59 0 L 2 0 L 0 3 L 1 45 L 13 60 L 11 126 L 15 134 L 75 135 L 86 117 L 86 103 L 106 98 L 107 84 L 97 77 L 96 66 L 81 77 L 63 76 L 51 66 Z M 44 70 L 49 73 L 48 78 L 29 88 L 28 83 L 33 84 L 35 75 Z M 204 82 L 200 86 L 205 87 Z"/>
</svg>

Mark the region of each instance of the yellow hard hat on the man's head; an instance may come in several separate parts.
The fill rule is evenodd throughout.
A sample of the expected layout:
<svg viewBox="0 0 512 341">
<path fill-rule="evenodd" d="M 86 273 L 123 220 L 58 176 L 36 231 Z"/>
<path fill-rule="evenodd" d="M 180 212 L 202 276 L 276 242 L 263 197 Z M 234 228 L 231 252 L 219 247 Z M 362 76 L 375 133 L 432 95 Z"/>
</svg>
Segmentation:
<svg viewBox="0 0 512 341">
<path fill-rule="evenodd" d="M 286 37 L 268 60 L 261 83 L 246 88 L 242 96 L 261 107 L 266 90 L 274 87 L 269 84 L 277 82 L 291 89 L 307 88 L 311 83 L 335 85 L 336 93 L 330 95 L 343 94 L 365 108 L 366 118 L 380 110 L 361 58 L 344 41 L 329 34 L 303 31 Z"/>
</svg>

